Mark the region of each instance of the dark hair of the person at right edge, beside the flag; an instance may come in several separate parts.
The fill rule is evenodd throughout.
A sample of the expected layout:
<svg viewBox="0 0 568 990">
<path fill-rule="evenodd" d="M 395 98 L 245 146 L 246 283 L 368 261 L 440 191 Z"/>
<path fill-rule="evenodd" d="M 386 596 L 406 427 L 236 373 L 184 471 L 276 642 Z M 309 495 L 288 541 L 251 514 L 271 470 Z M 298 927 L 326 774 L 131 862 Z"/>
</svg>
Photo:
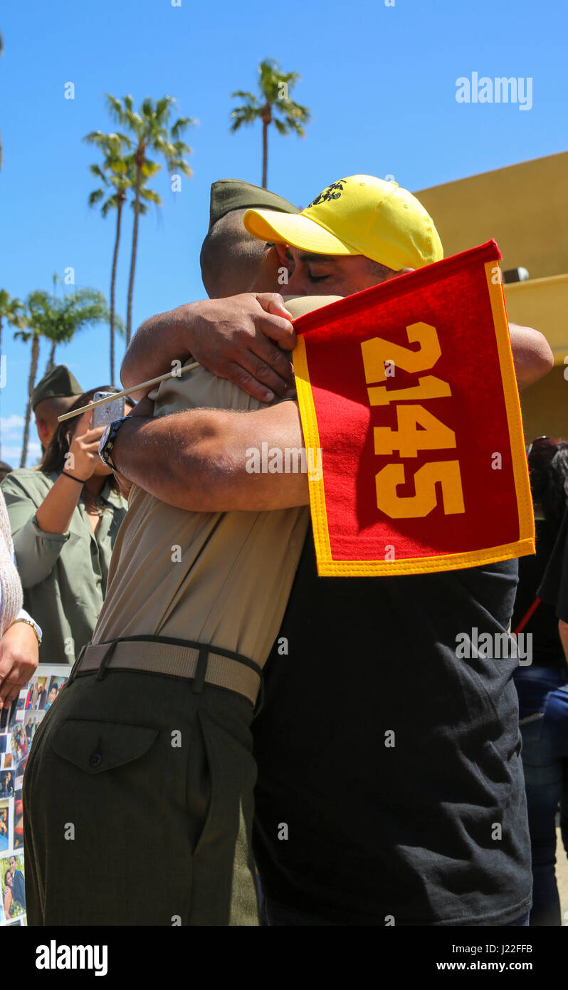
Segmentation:
<svg viewBox="0 0 568 990">
<path fill-rule="evenodd" d="M 545 519 L 560 529 L 568 495 L 568 444 L 538 438 L 529 448 L 528 474 L 533 502 L 539 502 Z"/>
</svg>

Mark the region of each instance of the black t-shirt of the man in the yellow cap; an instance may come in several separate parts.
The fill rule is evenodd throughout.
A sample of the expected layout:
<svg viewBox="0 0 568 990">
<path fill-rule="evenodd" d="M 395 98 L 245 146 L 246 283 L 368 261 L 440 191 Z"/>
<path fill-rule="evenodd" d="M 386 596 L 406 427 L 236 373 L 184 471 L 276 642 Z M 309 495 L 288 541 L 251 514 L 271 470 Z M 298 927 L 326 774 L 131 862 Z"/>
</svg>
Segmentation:
<svg viewBox="0 0 568 990">
<path fill-rule="evenodd" d="M 346 925 L 528 910 L 518 661 L 456 656 L 504 634 L 516 584 L 516 560 L 318 578 L 308 535 L 253 724 L 268 897 Z"/>
</svg>

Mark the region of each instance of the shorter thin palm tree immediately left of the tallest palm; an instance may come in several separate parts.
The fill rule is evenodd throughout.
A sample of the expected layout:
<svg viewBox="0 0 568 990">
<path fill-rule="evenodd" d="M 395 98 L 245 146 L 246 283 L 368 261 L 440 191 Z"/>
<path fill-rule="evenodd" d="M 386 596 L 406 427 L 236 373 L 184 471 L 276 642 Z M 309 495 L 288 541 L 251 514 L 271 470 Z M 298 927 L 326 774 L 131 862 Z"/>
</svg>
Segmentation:
<svg viewBox="0 0 568 990">
<path fill-rule="evenodd" d="M 95 206 L 104 200 L 101 206 L 101 213 L 106 217 L 110 210 L 117 211 L 117 227 L 115 233 L 115 247 L 113 250 L 113 264 L 111 268 L 111 308 L 110 308 L 110 331 L 111 331 L 111 385 L 115 384 L 115 290 L 117 281 L 117 261 L 119 256 L 119 245 L 121 240 L 121 225 L 123 207 L 127 200 L 127 190 L 134 186 L 134 169 L 132 159 L 123 154 L 126 148 L 131 147 L 130 139 L 124 134 L 103 134 L 102 131 L 92 131 L 83 138 L 90 145 L 96 145 L 103 152 L 102 165 L 89 165 L 90 171 L 103 183 L 103 187 L 95 189 L 89 196 L 89 206 Z M 107 196 L 107 190 L 112 192 Z M 107 198 L 105 198 L 107 197 Z"/>
</svg>

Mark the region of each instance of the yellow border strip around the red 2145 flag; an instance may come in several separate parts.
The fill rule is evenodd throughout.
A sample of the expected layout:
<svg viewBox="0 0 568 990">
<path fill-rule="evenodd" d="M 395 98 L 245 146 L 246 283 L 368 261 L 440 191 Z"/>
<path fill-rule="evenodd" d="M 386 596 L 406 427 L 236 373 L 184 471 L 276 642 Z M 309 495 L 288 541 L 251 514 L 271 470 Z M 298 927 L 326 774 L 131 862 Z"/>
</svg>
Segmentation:
<svg viewBox="0 0 568 990">
<path fill-rule="evenodd" d="M 494 280 L 496 269 L 499 272 L 499 280 L 497 282 Z M 397 560 L 396 558 L 394 560 L 333 560 L 331 556 L 324 474 L 322 473 L 322 477 L 319 480 L 308 475 L 310 509 L 314 528 L 318 574 L 320 577 L 378 577 L 384 574 L 427 574 L 435 571 L 458 570 L 463 567 L 481 566 L 487 563 L 495 563 L 498 560 L 509 560 L 512 557 L 534 553 L 534 521 L 530 499 L 528 468 L 524 452 L 521 404 L 511 351 L 501 266 L 497 258 L 485 262 L 485 275 L 507 409 L 509 441 L 519 509 L 519 540 L 512 544 L 488 546 L 479 550 L 467 550 L 464 553 L 443 553 L 429 557 L 405 557 L 403 560 Z M 304 445 L 306 449 L 310 447 L 319 449 L 321 445 L 318 419 L 316 416 L 312 383 L 310 381 L 306 344 L 302 335 L 298 336 L 298 343 L 294 348 L 294 372 L 302 430 L 304 433 Z M 325 451 L 323 452 L 324 457 Z"/>
</svg>

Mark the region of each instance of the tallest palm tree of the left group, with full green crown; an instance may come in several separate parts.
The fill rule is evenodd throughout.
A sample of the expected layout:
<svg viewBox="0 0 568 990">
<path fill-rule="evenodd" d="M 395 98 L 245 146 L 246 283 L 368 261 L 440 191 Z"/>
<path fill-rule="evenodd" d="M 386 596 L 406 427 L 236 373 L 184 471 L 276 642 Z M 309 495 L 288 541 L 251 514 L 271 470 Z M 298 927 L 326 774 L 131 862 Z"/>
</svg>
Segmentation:
<svg viewBox="0 0 568 990">
<path fill-rule="evenodd" d="M 185 160 L 185 154 L 191 154 L 191 148 L 181 140 L 183 132 L 197 122 L 191 117 L 179 117 L 171 126 L 171 112 L 175 105 L 172 96 L 163 96 L 154 103 L 149 97 L 143 101 L 139 111 L 134 109 L 132 96 L 122 100 L 107 93 L 107 108 L 114 119 L 126 128 L 134 138 L 133 162 L 135 167 L 135 221 L 133 226 L 133 246 L 131 254 L 131 271 L 129 277 L 129 295 L 127 306 L 127 347 L 131 340 L 133 293 L 137 262 L 139 237 L 139 217 L 142 213 L 141 199 L 144 182 L 157 170 L 159 165 L 149 162 L 146 152 L 151 150 L 160 154 L 166 162 L 170 173 L 180 171 L 191 175 L 191 168 Z M 150 192 L 150 190 L 146 190 Z"/>
</svg>

